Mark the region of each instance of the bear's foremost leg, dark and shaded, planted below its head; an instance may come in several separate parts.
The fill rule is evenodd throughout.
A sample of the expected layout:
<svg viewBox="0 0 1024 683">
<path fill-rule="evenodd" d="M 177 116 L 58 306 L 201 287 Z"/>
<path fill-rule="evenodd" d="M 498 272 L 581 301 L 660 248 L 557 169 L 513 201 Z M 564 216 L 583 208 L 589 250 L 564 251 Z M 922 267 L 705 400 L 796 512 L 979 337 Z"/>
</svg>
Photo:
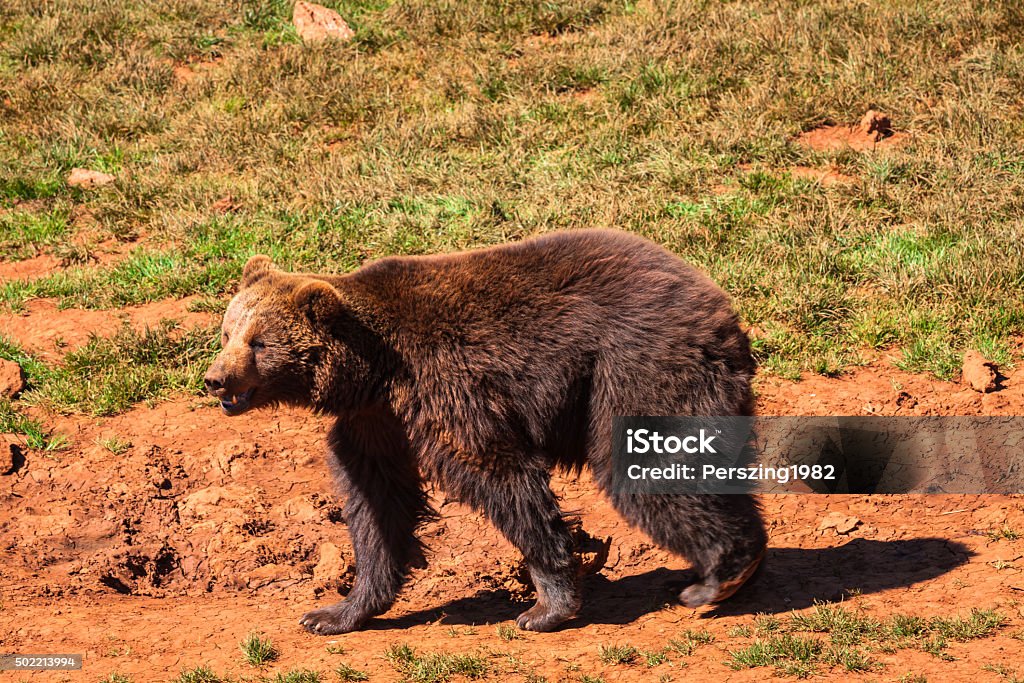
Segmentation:
<svg viewBox="0 0 1024 683">
<path fill-rule="evenodd" d="M 314 609 L 300 621 L 307 631 L 322 635 L 354 631 L 391 607 L 410 565 L 423 562 L 416 527 L 431 514 L 395 422 L 339 421 L 329 442 L 329 463 L 345 497 L 355 584 L 343 601 Z"/>
</svg>

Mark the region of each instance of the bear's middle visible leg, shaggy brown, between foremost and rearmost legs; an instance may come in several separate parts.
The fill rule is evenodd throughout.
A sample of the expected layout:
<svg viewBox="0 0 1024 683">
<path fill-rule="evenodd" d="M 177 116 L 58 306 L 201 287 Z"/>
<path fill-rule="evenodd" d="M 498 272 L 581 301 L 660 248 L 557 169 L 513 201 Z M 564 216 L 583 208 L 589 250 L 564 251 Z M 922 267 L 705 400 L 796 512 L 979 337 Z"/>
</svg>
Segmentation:
<svg viewBox="0 0 1024 683">
<path fill-rule="evenodd" d="M 522 553 L 537 588 L 537 603 L 516 618 L 526 631 L 556 629 L 575 616 L 582 602 L 580 559 L 549 482 L 550 474 L 538 468 L 489 471 L 445 486 L 482 512 Z"/>
</svg>

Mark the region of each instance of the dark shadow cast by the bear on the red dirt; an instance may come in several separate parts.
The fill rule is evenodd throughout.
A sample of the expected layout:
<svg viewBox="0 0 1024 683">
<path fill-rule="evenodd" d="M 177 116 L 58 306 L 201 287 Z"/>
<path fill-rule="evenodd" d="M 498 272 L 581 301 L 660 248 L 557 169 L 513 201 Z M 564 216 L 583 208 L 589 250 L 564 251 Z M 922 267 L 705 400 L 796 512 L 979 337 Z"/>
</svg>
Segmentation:
<svg viewBox="0 0 1024 683">
<path fill-rule="evenodd" d="M 675 602 L 675 596 L 691 580 L 688 570 L 663 567 L 615 580 L 598 574 L 585 580 L 584 607 L 563 628 L 632 624 L 670 606 L 703 618 L 802 609 L 815 602 L 906 588 L 940 577 L 973 555 L 967 546 L 946 539 L 854 539 L 831 548 L 769 548 L 757 573 L 732 598 L 699 612 Z M 437 607 L 378 617 L 366 628 L 402 629 L 434 622 L 493 624 L 514 620 L 530 604 L 513 601 L 508 591 L 480 591 Z"/>
</svg>

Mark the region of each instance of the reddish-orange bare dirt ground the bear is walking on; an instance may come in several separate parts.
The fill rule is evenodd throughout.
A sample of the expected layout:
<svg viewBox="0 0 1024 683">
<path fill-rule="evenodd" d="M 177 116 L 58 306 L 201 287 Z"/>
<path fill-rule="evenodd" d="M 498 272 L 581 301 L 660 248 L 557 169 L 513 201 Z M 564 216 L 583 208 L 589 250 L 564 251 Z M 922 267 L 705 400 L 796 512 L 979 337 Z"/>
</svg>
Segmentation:
<svg viewBox="0 0 1024 683">
<path fill-rule="evenodd" d="M 185 308 L 163 302 L 127 314 L 134 324 L 155 323 Z M 75 344 L 90 330 L 109 333 L 119 317 L 39 302 L 27 316 L 2 316 L 0 332 L 47 350 L 55 336 Z M 762 378 L 759 391 L 766 415 L 1021 415 L 1024 372 L 982 395 L 880 360 L 840 379 Z M 477 514 L 435 492 L 441 517 L 423 529 L 430 566 L 416 570 L 394 608 L 366 631 L 323 638 L 303 632 L 298 620 L 339 599 L 352 579 L 340 502 L 323 465 L 324 419 L 288 410 L 227 419 L 209 401 L 180 397 L 114 418 L 49 421 L 72 446 L 26 452 L 13 473 L 0 475 L 0 651 L 79 652 L 86 664 L 84 672 L 25 680 L 97 681 L 119 672 L 136 682 L 167 681 L 207 665 L 250 679 L 316 669 L 330 681 L 344 661 L 371 681 L 394 681 L 400 675 L 382 654 L 406 642 L 421 651 L 482 652 L 505 671 L 512 654 L 522 671 L 550 681 L 760 681 L 772 670 L 724 664 L 728 650 L 752 642 L 730 631 L 758 612 L 784 616 L 844 597 L 878 618 L 979 607 L 999 609 L 1009 624 L 992 637 L 951 642 L 953 661 L 904 649 L 873 653 L 884 668 L 868 674 L 825 669 L 822 676 L 996 680 L 983 667 L 1013 668 L 1024 658 L 1024 641 L 1012 637 L 1024 626 L 1024 540 L 986 536 L 1004 525 L 1024 530 L 1024 497 L 765 497 L 771 548 L 763 569 L 726 604 L 693 610 L 671 602 L 685 561 L 629 529 L 586 475 L 558 477 L 563 507 L 579 511 L 593 536 L 612 537 L 610 555 L 586 580 L 584 610 L 568 628 L 506 641 L 494 625 L 510 623 L 528 597 L 516 579 L 517 554 Z M 131 446 L 115 455 L 98 445 L 114 435 Z M 846 535 L 822 529 L 829 513 L 859 524 Z M 717 640 L 651 669 L 600 659 L 602 644 L 657 650 L 687 629 L 707 629 Z M 239 641 L 254 630 L 281 651 L 265 672 L 241 658 Z"/>
</svg>

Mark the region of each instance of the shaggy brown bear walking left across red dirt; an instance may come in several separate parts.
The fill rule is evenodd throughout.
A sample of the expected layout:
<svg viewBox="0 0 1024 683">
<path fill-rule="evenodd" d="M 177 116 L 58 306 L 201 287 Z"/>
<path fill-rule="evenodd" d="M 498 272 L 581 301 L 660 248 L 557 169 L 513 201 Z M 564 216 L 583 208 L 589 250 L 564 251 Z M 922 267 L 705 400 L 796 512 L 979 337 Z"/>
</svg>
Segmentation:
<svg viewBox="0 0 1024 683">
<path fill-rule="evenodd" d="M 549 233 L 437 256 L 388 257 L 345 275 L 246 264 L 206 376 L 227 415 L 288 403 L 332 416 L 329 461 L 356 579 L 305 614 L 319 634 L 359 628 L 423 562 L 428 479 L 522 552 L 549 631 L 581 606 L 579 559 L 551 471 L 585 465 L 612 505 L 687 558 L 690 606 L 731 595 L 766 545 L 745 495 L 624 495 L 611 487 L 613 416 L 744 416 L 754 361 L 726 295 L 677 256 L 615 230 Z"/>
</svg>

